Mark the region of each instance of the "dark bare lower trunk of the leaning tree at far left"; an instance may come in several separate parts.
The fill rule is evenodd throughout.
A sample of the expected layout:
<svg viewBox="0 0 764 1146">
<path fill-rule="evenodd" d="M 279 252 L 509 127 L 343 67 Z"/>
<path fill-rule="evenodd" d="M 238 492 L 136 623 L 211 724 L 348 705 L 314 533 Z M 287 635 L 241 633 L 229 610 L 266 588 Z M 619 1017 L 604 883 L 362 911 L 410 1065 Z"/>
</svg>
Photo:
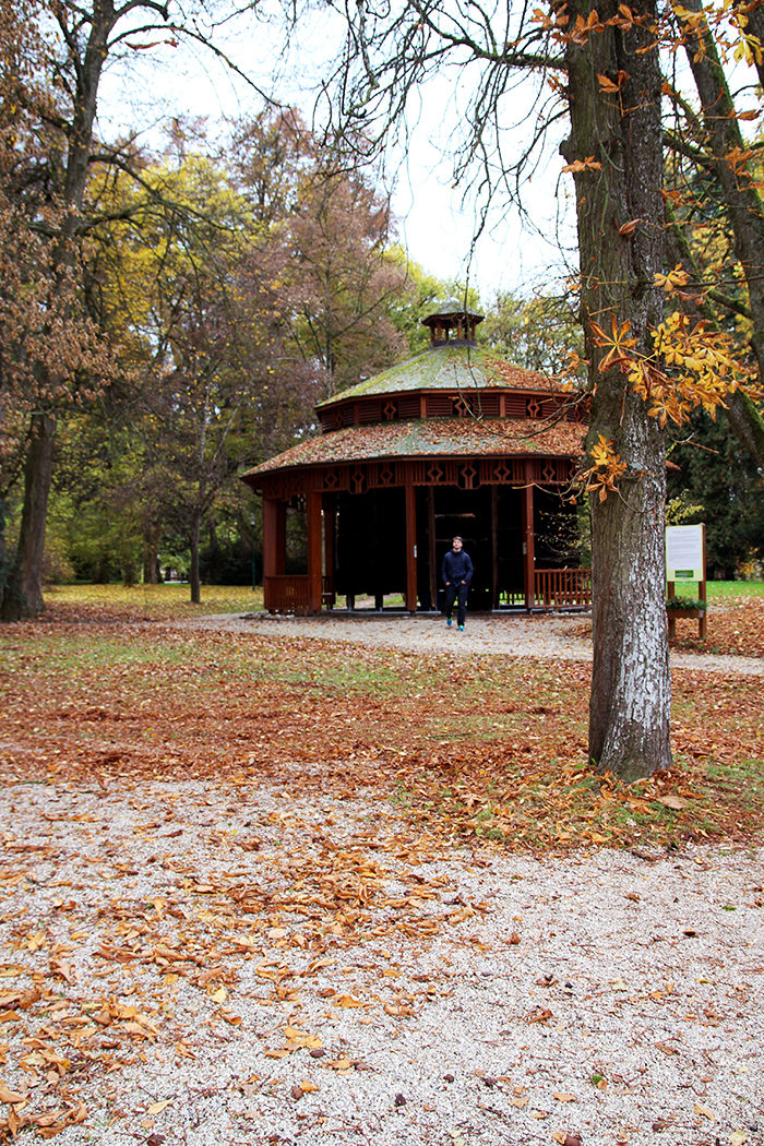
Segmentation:
<svg viewBox="0 0 764 1146">
<path fill-rule="evenodd" d="M 2 620 L 18 621 L 42 611 L 42 555 L 53 478 L 56 423 L 52 414 L 32 415 L 24 466 L 24 509 L 16 560 L 2 595 Z"/>
</svg>

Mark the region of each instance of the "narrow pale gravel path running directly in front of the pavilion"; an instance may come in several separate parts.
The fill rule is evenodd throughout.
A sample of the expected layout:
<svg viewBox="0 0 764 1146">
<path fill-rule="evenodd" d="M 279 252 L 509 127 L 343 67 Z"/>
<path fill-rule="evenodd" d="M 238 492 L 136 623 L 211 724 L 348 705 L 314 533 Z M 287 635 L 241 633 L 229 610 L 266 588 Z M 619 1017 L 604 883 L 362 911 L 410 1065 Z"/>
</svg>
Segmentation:
<svg viewBox="0 0 764 1146">
<path fill-rule="evenodd" d="M 260 634 L 293 634 L 322 641 L 427 652 L 504 653 L 512 657 L 591 660 L 591 621 L 581 613 L 562 615 L 468 617 L 464 633 L 447 628 L 440 617 L 399 615 L 369 618 L 271 617 L 268 613 L 227 613 L 204 617 L 181 625 L 212 629 L 235 629 Z M 709 673 L 764 676 L 764 660 L 757 657 L 718 657 L 710 653 L 672 652 L 676 668 Z"/>
</svg>

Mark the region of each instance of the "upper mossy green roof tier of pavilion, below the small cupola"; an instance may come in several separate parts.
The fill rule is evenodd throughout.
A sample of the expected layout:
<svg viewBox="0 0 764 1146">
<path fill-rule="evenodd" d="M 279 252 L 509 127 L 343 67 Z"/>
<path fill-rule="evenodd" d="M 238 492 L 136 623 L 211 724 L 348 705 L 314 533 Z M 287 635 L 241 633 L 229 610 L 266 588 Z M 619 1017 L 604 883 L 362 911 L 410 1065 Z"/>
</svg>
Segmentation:
<svg viewBox="0 0 764 1146">
<path fill-rule="evenodd" d="M 466 343 L 438 346 L 417 354 L 399 366 L 344 390 L 321 402 L 316 409 L 348 398 L 369 394 L 396 394 L 405 391 L 450 390 L 520 390 L 560 393 L 564 387 L 538 370 L 526 370 L 499 358 L 495 352 L 479 350 Z"/>
</svg>

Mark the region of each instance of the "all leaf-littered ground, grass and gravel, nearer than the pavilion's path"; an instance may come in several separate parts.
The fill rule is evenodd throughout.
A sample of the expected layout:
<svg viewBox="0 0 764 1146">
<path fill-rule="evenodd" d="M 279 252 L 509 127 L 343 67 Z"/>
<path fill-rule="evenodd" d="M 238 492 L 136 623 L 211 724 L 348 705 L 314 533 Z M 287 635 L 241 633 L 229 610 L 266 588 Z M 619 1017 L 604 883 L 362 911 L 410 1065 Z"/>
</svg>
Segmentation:
<svg viewBox="0 0 764 1146">
<path fill-rule="evenodd" d="M 584 665 L 0 639 L 0 1140 L 764 1140 L 761 678 L 624 790 Z"/>
</svg>

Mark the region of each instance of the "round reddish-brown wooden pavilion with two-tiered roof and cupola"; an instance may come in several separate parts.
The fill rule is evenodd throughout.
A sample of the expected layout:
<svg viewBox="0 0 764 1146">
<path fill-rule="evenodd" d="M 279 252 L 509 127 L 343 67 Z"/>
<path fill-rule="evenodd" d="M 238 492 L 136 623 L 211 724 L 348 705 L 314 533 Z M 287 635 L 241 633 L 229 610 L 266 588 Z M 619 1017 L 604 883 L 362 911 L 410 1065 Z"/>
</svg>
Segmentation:
<svg viewBox="0 0 764 1146">
<path fill-rule="evenodd" d="M 589 571 L 558 543 L 575 529 L 561 494 L 583 453 L 580 406 L 479 348 L 481 315 L 454 305 L 423 321 L 426 353 L 322 402 L 318 435 L 244 474 L 262 495 L 266 609 L 314 614 L 344 597 L 383 610 L 394 595 L 435 610 L 457 533 L 475 565 L 471 609 L 588 606 Z M 298 573 L 288 511 L 305 515 Z"/>
</svg>

